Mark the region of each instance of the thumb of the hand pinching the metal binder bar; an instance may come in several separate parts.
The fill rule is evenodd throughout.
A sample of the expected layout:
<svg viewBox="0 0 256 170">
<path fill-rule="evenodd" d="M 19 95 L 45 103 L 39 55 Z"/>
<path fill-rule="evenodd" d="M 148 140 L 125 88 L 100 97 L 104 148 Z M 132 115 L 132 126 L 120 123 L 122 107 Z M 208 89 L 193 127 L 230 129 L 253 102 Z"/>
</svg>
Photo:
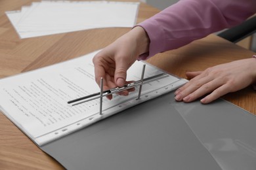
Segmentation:
<svg viewBox="0 0 256 170">
<path fill-rule="evenodd" d="M 115 82 L 118 87 L 125 85 L 128 68 L 129 67 L 125 65 L 125 63 L 119 63 L 116 65 Z"/>
</svg>

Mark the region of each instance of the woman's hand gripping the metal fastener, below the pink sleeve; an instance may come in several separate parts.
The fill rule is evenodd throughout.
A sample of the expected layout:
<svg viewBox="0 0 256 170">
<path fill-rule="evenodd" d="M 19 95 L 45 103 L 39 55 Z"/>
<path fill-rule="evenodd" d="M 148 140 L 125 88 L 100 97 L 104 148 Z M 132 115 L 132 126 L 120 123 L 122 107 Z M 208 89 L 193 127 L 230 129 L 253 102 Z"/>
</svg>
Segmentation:
<svg viewBox="0 0 256 170">
<path fill-rule="evenodd" d="M 138 26 L 98 52 L 93 58 L 96 83 L 100 85 L 102 77 L 104 90 L 127 84 L 127 69 L 140 54 L 148 52 L 149 43 L 148 35 L 142 27 Z M 123 91 L 119 94 L 128 95 L 133 90 Z M 112 95 L 109 95 L 108 99 L 112 99 Z"/>
</svg>

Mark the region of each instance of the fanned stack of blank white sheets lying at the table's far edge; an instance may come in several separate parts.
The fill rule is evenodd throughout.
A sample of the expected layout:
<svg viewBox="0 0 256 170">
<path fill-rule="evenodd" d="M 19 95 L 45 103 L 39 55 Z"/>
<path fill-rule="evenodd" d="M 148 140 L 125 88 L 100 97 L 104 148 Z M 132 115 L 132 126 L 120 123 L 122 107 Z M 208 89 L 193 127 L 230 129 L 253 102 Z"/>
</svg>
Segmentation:
<svg viewBox="0 0 256 170">
<path fill-rule="evenodd" d="M 6 12 L 21 39 L 102 27 L 133 27 L 139 3 L 41 1 Z"/>
</svg>

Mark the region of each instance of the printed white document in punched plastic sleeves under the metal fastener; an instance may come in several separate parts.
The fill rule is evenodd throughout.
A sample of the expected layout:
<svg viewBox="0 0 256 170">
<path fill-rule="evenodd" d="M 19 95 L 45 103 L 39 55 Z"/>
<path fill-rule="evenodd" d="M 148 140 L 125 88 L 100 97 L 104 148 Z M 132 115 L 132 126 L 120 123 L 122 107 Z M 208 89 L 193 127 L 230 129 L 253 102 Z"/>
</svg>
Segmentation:
<svg viewBox="0 0 256 170">
<path fill-rule="evenodd" d="M 128 96 L 114 95 L 110 101 L 104 97 L 102 113 L 99 99 L 71 107 L 68 101 L 99 92 L 95 82 L 93 56 L 43 67 L 28 73 L 0 80 L 0 109 L 20 127 L 35 143 L 42 145 L 112 114 L 137 105 L 148 99 L 170 92 L 186 80 L 167 75 L 138 88 Z M 140 80 L 142 61 L 137 61 L 128 71 L 127 80 Z M 163 73 L 146 64 L 144 78 Z"/>
</svg>

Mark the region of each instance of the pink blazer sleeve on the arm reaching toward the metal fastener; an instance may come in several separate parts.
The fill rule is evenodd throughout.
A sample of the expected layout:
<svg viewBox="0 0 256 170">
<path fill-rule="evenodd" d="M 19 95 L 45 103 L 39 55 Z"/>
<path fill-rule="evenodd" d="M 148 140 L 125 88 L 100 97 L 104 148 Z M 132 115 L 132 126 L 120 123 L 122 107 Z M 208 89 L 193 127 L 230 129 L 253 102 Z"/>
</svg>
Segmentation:
<svg viewBox="0 0 256 170">
<path fill-rule="evenodd" d="M 243 22 L 256 12 L 256 0 L 180 0 L 138 24 L 150 38 L 146 59 Z"/>
</svg>

